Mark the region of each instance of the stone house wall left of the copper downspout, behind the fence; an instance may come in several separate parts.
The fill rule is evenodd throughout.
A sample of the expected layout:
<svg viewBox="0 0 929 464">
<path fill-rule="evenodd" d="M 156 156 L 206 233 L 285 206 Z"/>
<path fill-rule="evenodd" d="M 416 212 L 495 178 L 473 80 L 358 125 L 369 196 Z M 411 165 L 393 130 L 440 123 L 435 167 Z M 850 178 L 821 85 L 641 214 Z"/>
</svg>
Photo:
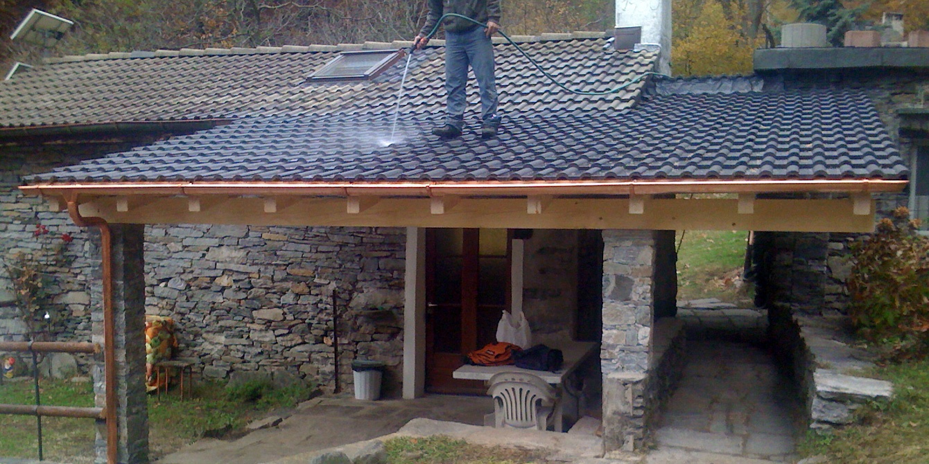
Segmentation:
<svg viewBox="0 0 929 464">
<path fill-rule="evenodd" d="M 17 253 L 44 254 L 64 245 L 61 262 L 64 266 L 46 268 L 46 298 L 43 307 L 52 321 L 54 340 L 59 342 L 89 342 L 90 312 L 99 304 L 99 292 L 92 290 L 98 279 L 98 236 L 74 226 L 67 213 L 48 211 L 48 204 L 39 197 L 25 196 L 18 187 L 23 177 L 50 169 L 97 158 L 101 153 L 120 151 L 147 144 L 154 135 L 121 135 L 94 140 L 83 138 L 47 137 L 41 141 L 29 139 L 0 142 L 0 258 L 9 264 Z M 44 235 L 35 235 L 37 226 L 45 226 Z M 62 241 L 68 234 L 72 240 Z M 96 277 L 95 277 L 96 276 Z M 0 272 L 0 340 L 20 341 L 27 330 L 19 319 L 11 282 L 6 267 Z M 90 359 L 77 356 L 81 370 L 86 371 Z"/>
</svg>

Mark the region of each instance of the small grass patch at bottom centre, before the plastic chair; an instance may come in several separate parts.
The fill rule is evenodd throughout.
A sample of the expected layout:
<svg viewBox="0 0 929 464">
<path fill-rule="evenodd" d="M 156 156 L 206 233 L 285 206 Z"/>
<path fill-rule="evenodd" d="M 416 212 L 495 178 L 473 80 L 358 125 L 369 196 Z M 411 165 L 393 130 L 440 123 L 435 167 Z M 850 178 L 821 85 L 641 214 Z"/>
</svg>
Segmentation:
<svg viewBox="0 0 929 464">
<path fill-rule="evenodd" d="M 468 445 L 447 436 L 394 438 L 385 444 L 389 464 L 523 464 L 544 462 L 539 451 Z"/>
</svg>

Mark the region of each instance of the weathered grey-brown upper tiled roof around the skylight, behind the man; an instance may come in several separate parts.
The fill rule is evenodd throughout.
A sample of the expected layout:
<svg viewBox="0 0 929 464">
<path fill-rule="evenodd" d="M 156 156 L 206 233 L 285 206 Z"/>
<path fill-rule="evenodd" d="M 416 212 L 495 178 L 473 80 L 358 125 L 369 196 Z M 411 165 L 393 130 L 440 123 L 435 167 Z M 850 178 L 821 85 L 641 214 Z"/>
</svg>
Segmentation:
<svg viewBox="0 0 929 464">
<path fill-rule="evenodd" d="M 559 79 L 585 90 L 606 90 L 652 71 L 654 53 L 613 50 L 603 35 L 543 35 L 521 46 Z M 403 45 L 408 44 L 369 44 L 368 48 Z M 404 110 L 435 114 L 444 109 L 443 50 L 430 46 L 413 54 Z M 405 59 L 371 82 L 307 81 L 307 74 L 339 53 L 335 46 L 319 45 L 59 58 L 0 82 L 0 131 L 104 122 L 324 115 L 348 119 L 392 111 Z M 644 84 L 632 84 L 608 97 L 580 98 L 544 80 L 513 45 L 497 44 L 495 53 L 501 107 L 511 113 L 563 107 L 622 109 L 634 103 Z M 469 100 L 476 101 L 477 86 L 471 86 L 470 92 Z"/>
</svg>

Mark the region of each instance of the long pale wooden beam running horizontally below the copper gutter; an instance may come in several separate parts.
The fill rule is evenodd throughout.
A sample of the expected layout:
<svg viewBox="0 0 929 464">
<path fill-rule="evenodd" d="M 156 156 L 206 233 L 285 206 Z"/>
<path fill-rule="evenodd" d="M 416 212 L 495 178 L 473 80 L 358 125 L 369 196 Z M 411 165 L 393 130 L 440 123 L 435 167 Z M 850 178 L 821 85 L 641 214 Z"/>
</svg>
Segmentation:
<svg viewBox="0 0 929 464">
<path fill-rule="evenodd" d="M 737 199 L 651 199 L 641 214 L 629 213 L 626 199 L 566 199 L 553 201 L 543 214 L 530 214 L 525 199 L 463 198 L 444 214 L 430 212 L 428 198 L 384 198 L 364 213 L 347 213 L 346 200 L 294 199 L 278 213 L 264 212 L 259 198 L 204 197 L 200 213 L 188 211 L 187 199 L 166 196 L 116 211 L 111 196 L 87 198 L 85 216 L 100 216 L 126 224 L 238 224 L 256 226 L 388 226 L 490 228 L 626 228 L 655 230 L 774 230 L 785 232 L 870 232 L 873 208 L 853 214 L 853 204 L 837 200 L 754 200 L 753 214 L 739 214 Z M 86 201 L 85 200 L 85 201 Z M 205 201 L 209 200 L 209 203 Z M 222 202 L 223 207 L 215 205 Z M 212 207 L 205 207 L 210 205 Z M 359 211 L 365 206 L 360 200 Z"/>
</svg>

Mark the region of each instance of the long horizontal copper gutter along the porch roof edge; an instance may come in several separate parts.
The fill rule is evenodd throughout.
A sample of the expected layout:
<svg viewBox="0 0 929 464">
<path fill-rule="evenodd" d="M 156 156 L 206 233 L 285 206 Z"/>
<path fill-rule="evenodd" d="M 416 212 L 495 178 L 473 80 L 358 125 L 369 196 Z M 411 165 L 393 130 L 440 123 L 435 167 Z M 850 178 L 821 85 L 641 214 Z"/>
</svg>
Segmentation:
<svg viewBox="0 0 929 464">
<path fill-rule="evenodd" d="M 37 184 L 26 194 L 85 195 L 656 195 L 669 193 L 898 192 L 909 183 L 890 179 L 617 180 L 553 182 L 111 182 Z"/>
</svg>

